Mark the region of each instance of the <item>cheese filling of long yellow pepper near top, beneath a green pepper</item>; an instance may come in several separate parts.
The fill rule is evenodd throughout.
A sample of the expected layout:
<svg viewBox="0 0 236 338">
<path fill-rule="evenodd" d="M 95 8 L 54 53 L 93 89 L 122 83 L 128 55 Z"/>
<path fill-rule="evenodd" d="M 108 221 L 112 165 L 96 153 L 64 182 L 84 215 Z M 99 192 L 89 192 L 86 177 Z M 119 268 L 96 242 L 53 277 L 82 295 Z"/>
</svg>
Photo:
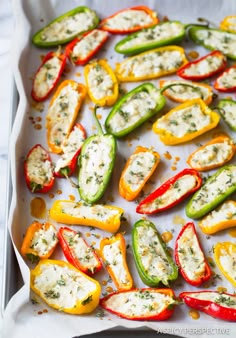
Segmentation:
<svg viewBox="0 0 236 338">
<path fill-rule="evenodd" d="M 178 51 L 149 52 L 137 55 L 120 63 L 122 76 L 143 77 L 155 74 L 165 75 L 175 71 L 184 63 L 184 55 Z"/>
</svg>

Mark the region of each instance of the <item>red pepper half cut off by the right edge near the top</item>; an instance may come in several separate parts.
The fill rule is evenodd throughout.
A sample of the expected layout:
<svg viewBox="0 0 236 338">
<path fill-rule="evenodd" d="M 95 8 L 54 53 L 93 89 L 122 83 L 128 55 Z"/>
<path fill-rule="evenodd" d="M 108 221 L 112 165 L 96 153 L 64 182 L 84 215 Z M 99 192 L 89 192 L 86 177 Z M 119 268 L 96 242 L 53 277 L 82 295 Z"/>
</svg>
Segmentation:
<svg viewBox="0 0 236 338">
<path fill-rule="evenodd" d="M 236 66 L 227 68 L 215 81 L 215 89 L 219 92 L 230 93 L 236 91 Z"/>
</svg>

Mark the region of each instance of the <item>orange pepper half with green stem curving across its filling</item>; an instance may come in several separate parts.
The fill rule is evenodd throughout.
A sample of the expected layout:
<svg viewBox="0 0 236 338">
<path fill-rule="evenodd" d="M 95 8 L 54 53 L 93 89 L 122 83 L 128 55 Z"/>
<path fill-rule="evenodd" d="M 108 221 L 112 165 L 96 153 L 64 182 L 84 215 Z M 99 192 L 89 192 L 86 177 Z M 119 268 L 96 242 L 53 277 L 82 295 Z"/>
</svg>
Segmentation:
<svg viewBox="0 0 236 338">
<path fill-rule="evenodd" d="M 207 105 L 212 101 L 213 91 L 211 86 L 205 83 L 197 83 L 187 80 L 160 80 L 160 88 L 171 84 L 178 84 L 164 91 L 169 99 L 175 102 L 186 102 L 192 99 L 202 99 Z"/>
</svg>

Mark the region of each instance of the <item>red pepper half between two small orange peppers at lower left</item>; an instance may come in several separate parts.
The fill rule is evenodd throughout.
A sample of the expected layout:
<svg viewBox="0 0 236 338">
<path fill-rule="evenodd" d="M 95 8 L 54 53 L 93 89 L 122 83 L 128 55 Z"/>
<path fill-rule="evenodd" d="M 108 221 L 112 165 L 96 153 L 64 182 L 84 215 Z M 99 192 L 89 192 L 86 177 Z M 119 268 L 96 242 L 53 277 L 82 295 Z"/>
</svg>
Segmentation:
<svg viewBox="0 0 236 338">
<path fill-rule="evenodd" d="M 69 263 L 89 276 L 101 270 L 102 262 L 80 232 L 64 227 L 59 229 L 57 236 Z"/>
</svg>

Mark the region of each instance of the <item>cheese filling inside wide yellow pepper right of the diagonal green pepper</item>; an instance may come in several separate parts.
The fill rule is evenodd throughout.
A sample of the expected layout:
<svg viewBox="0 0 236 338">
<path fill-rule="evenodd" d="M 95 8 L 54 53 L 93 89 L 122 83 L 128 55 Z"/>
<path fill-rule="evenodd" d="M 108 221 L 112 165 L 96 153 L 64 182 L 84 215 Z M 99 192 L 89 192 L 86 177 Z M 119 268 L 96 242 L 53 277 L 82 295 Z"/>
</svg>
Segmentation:
<svg viewBox="0 0 236 338">
<path fill-rule="evenodd" d="M 164 115 L 157 120 L 157 128 L 182 138 L 189 133 L 198 132 L 210 123 L 210 115 L 204 113 L 199 104 L 193 104 L 190 107 L 178 109 L 169 116 Z"/>
</svg>

